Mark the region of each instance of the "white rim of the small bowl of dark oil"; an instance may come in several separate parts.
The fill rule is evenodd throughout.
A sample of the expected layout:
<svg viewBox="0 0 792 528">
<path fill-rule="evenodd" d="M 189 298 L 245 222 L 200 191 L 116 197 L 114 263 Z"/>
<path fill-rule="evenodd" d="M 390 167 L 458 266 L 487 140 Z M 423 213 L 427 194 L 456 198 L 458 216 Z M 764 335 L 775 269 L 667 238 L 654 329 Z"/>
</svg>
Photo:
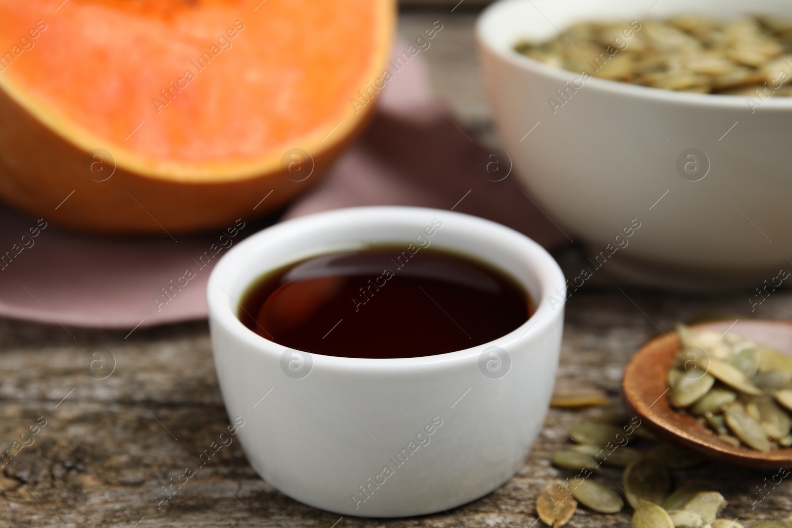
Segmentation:
<svg viewBox="0 0 792 528">
<path fill-rule="evenodd" d="M 332 226 L 333 224 L 348 223 L 350 218 L 352 218 L 350 215 L 356 217 L 354 220 L 356 224 L 362 225 L 360 242 L 364 243 L 367 243 L 367 235 L 363 233 L 362 229 L 365 228 L 367 222 L 387 221 L 393 222 L 394 225 L 398 224 L 399 221 L 423 223 L 427 215 L 440 216 L 444 222 L 447 219 L 451 220 L 451 222 L 448 222 L 454 225 L 451 229 L 455 230 L 457 235 L 463 237 L 475 239 L 482 232 L 486 232 L 488 237 L 497 240 L 498 245 L 503 246 L 515 256 L 519 256 L 520 260 L 531 269 L 535 282 L 539 284 L 541 298 L 534 298 L 536 306 L 534 313 L 522 325 L 512 330 L 512 332 L 508 332 L 505 336 L 500 336 L 495 340 L 478 344 L 471 348 L 437 355 L 387 359 L 351 358 L 311 352 L 310 356 L 313 359 L 314 367 L 321 365 L 322 369 L 325 370 L 360 370 L 367 373 L 388 374 L 393 373 L 394 370 L 414 372 L 416 370 L 425 371 L 433 368 L 444 368 L 450 363 L 460 361 L 465 363 L 478 362 L 479 355 L 486 348 L 497 346 L 505 348 L 508 352 L 510 348 L 513 350 L 516 345 L 523 345 L 527 340 L 533 339 L 534 336 L 543 335 L 548 329 L 552 329 L 559 320 L 563 321 L 566 299 L 565 276 L 558 263 L 550 256 L 550 253 L 547 253 L 546 249 L 531 240 L 531 238 L 497 222 L 455 211 L 428 207 L 368 206 L 345 207 L 339 210 L 323 211 L 287 220 L 261 230 L 234 245 L 218 261 L 209 276 L 207 304 L 210 329 L 214 325 L 222 326 L 226 332 L 233 336 L 234 340 L 246 344 L 251 350 L 280 360 L 280 355 L 285 350 L 292 349 L 259 336 L 243 325 L 233 309 L 234 303 L 238 304 L 239 299 L 231 298 L 230 293 L 223 286 L 228 286 L 227 283 L 230 281 L 239 280 L 228 277 L 237 275 L 239 268 L 246 261 L 246 257 L 249 252 L 253 251 L 253 248 L 257 248 L 257 251 L 260 252 L 262 247 L 270 244 L 279 244 L 279 239 L 282 240 L 283 237 L 299 236 L 300 233 L 307 231 L 327 229 L 327 226 Z M 446 228 L 445 225 L 444 228 Z M 478 230 L 478 233 L 470 234 L 469 230 Z M 407 238 L 405 237 L 405 240 Z M 443 246 L 440 245 L 438 247 Z M 309 251 L 307 253 L 295 253 L 294 257 L 286 259 L 286 261 L 300 260 L 306 256 L 321 255 L 328 252 L 326 249 L 320 248 L 315 252 Z M 469 253 L 471 256 L 498 266 L 496 262 L 489 260 L 482 253 L 476 253 L 475 251 L 470 251 Z M 266 271 L 267 268 L 262 268 L 259 275 Z M 524 280 L 518 277 L 515 277 L 515 279 L 522 283 L 524 287 L 527 287 Z M 249 280 L 247 284 L 249 284 Z M 556 302 L 560 298 L 561 306 L 554 306 L 553 298 L 555 298 Z"/>
</svg>

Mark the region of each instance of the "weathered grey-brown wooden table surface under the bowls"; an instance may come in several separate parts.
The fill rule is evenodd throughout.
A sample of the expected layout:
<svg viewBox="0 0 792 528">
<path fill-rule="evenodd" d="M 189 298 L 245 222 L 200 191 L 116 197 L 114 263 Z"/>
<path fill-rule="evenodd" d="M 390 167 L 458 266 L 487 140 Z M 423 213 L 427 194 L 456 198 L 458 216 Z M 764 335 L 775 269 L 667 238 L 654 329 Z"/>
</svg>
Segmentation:
<svg viewBox="0 0 792 528">
<path fill-rule="evenodd" d="M 436 94 L 480 139 L 497 142 L 478 78 L 475 13 L 406 10 L 400 32 L 409 39 L 438 19 L 445 25 L 442 38 L 424 55 Z M 571 249 L 558 258 L 573 270 L 580 255 Z M 676 321 L 711 313 L 792 317 L 792 294 L 786 291 L 775 292 L 750 313 L 743 292 L 683 298 L 619 291 L 601 275 L 567 303 L 557 385 L 603 389 L 614 401 L 630 355 Z M 551 479 L 572 476 L 549 462 L 568 442 L 564 431 L 604 412 L 550 409 L 520 473 L 489 496 L 447 514 L 339 519 L 276 492 L 253 472 L 238 443 L 220 450 L 158 509 L 155 496 L 161 487 L 195 462 L 196 454 L 227 427 L 228 418 L 205 322 L 126 334 L 0 319 L 0 449 L 21 446 L 23 439 L 33 442 L 13 460 L 0 462 L 7 462 L 0 470 L 0 526 L 534 526 L 539 491 Z M 83 368 L 102 357 L 97 354 L 115 358 L 115 370 L 105 379 L 91 378 Z M 23 437 L 37 420 L 46 420 L 39 434 Z M 619 474 L 605 468 L 597 479 L 615 488 Z M 725 515 L 786 518 L 792 511 L 792 486 L 784 481 L 763 497 L 756 486 L 767 476 L 705 464 L 676 472 L 675 484 L 698 482 L 718 489 L 729 500 Z M 567 526 L 629 526 L 630 515 L 629 507 L 617 515 L 581 508 Z"/>
</svg>

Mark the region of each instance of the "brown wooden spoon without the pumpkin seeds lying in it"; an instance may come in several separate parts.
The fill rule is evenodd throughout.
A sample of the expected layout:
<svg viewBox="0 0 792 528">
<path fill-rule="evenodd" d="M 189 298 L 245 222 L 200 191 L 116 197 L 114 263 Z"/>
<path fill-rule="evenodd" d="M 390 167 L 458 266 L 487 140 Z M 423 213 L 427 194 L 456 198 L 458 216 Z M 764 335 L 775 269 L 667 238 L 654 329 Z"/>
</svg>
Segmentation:
<svg viewBox="0 0 792 528">
<path fill-rule="evenodd" d="M 792 322 L 738 320 L 718 321 L 691 328 L 702 331 L 734 332 L 792 355 Z M 779 469 L 792 463 L 792 448 L 769 453 L 748 447 L 734 447 L 718 438 L 694 416 L 680 414 L 668 402 L 668 369 L 680 351 L 676 332 L 658 336 L 645 344 L 627 363 L 622 380 L 622 399 L 627 410 L 641 421 L 641 427 L 657 438 L 714 462 L 728 462 L 752 469 Z"/>
</svg>

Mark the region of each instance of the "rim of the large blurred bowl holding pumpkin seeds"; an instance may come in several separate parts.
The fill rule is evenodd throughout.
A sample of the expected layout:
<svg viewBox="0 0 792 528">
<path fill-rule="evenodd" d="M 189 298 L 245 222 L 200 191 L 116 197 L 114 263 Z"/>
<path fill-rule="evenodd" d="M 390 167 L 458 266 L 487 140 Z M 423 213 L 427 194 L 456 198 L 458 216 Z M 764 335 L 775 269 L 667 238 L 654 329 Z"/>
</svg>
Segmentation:
<svg viewBox="0 0 792 528">
<path fill-rule="evenodd" d="M 562 0 L 497 0 L 493 2 L 482 11 L 476 21 L 475 36 L 479 47 L 496 55 L 505 63 L 516 66 L 520 70 L 531 72 L 531 74 L 552 78 L 562 83 L 572 82 L 580 78 L 582 74 L 575 73 L 571 70 L 556 68 L 536 59 L 531 59 L 530 57 L 513 51 L 511 47 L 509 47 L 508 50 L 504 50 L 501 46 L 493 44 L 493 34 L 489 31 L 489 25 L 492 24 L 493 19 L 512 17 L 510 14 L 512 11 L 526 4 L 530 4 L 531 6 L 539 4 L 541 6 L 543 3 L 550 2 L 562 6 L 568 3 Z M 516 42 L 514 44 L 516 44 Z M 592 89 L 600 93 L 611 95 L 621 94 L 625 98 L 627 95 L 630 95 L 643 101 L 662 101 L 670 104 L 708 108 L 742 109 L 745 111 L 752 111 L 752 114 L 755 112 L 762 112 L 765 107 L 772 110 L 792 110 L 792 97 L 767 97 L 763 100 L 759 100 L 761 101 L 759 107 L 751 108 L 747 102 L 751 97 L 680 92 L 670 89 L 653 88 L 652 86 L 634 85 L 627 82 L 610 81 L 596 77 L 589 78 L 585 83 L 585 85 L 590 85 Z"/>
</svg>

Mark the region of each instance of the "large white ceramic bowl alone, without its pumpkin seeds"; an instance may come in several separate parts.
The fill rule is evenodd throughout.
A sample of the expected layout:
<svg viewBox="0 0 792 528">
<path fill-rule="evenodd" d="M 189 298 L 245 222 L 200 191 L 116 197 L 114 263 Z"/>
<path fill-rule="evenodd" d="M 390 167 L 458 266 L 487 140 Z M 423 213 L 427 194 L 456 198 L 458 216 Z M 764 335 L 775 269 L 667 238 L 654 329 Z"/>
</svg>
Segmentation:
<svg viewBox="0 0 792 528">
<path fill-rule="evenodd" d="M 781 0 L 501 0 L 478 21 L 494 120 L 524 184 L 594 255 L 638 218 L 642 226 L 629 248 L 614 252 L 607 265 L 634 283 L 759 286 L 790 265 L 792 99 L 771 98 L 756 108 L 745 97 L 598 78 L 566 91 L 580 74 L 512 47 L 556 36 L 577 21 L 680 13 L 735 19 L 738 10 L 792 17 L 792 3 Z M 552 97 L 563 104 L 550 104 Z M 677 164 L 680 157 L 682 166 L 694 161 L 683 154 L 689 149 L 708 162 L 699 156 L 698 175 L 683 177 Z M 691 181 L 707 166 L 706 177 Z"/>
</svg>

